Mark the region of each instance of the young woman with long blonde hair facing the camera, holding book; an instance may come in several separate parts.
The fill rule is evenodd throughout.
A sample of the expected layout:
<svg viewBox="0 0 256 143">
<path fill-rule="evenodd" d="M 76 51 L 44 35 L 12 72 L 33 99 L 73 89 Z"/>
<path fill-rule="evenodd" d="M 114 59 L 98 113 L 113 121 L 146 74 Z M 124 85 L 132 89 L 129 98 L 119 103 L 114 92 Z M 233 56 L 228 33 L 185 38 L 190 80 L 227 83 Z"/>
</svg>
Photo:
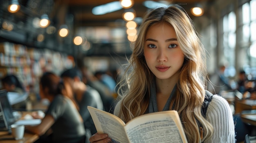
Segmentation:
<svg viewBox="0 0 256 143">
<path fill-rule="evenodd" d="M 234 143 L 234 121 L 224 98 L 213 95 L 206 117 L 202 115 L 205 77 L 204 48 L 187 13 L 177 5 L 154 9 L 139 27 L 114 114 L 128 122 L 150 112 L 177 110 L 189 143 Z M 111 139 L 94 134 L 90 141 Z"/>
</svg>

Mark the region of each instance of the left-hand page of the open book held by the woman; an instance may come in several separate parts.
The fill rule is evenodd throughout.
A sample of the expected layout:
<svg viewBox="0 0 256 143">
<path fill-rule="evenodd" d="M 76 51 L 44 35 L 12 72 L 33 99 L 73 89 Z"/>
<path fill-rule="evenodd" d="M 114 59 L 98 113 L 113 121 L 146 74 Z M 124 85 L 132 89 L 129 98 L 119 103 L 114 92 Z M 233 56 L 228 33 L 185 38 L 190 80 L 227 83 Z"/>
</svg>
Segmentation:
<svg viewBox="0 0 256 143">
<path fill-rule="evenodd" d="M 88 106 L 95 128 L 99 134 L 106 133 L 112 139 L 112 143 L 128 143 L 124 131 L 124 121 L 114 114 Z"/>
</svg>

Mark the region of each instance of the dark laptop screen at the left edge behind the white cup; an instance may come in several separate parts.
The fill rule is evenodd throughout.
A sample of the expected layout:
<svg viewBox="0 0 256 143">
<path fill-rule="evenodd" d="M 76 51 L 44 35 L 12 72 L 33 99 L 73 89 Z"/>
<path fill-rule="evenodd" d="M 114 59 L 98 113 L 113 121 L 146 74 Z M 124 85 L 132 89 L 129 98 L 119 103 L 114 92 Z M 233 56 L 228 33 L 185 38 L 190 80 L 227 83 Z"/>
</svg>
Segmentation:
<svg viewBox="0 0 256 143">
<path fill-rule="evenodd" d="M 6 90 L 0 90 L 0 130 L 10 130 L 16 119 L 13 116 Z"/>
</svg>

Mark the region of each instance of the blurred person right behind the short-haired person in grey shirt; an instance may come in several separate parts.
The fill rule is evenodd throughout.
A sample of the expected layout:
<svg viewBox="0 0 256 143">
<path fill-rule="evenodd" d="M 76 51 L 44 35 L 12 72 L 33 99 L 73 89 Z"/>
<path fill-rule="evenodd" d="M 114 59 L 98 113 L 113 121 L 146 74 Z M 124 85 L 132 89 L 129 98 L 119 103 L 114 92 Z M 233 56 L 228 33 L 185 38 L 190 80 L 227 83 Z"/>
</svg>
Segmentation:
<svg viewBox="0 0 256 143">
<path fill-rule="evenodd" d="M 80 70 L 83 75 L 83 82 L 99 92 L 104 110 L 112 113 L 113 107 L 115 106 L 115 98 L 112 96 L 111 91 L 104 84 L 102 84 L 97 77 L 94 76 L 87 66 L 80 67 Z"/>
</svg>

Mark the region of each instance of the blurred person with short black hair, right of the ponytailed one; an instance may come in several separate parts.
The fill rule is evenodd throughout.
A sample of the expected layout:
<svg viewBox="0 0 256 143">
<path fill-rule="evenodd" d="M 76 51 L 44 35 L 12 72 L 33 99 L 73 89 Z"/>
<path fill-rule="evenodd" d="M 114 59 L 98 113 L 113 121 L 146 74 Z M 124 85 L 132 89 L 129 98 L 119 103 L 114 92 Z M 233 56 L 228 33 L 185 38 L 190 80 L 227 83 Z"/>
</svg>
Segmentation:
<svg viewBox="0 0 256 143">
<path fill-rule="evenodd" d="M 103 110 L 103 103 L 99 92 L 83 83 L 82 73 L 78 68 L 65 70 L 61 77 L 72 88 L 74 99 L 79 105 L 79 113 L 83 118 L 85 129 L 89 129 L 92 134 L 96 133 L 97 131 L 87 106 Z"/>
</svg>

